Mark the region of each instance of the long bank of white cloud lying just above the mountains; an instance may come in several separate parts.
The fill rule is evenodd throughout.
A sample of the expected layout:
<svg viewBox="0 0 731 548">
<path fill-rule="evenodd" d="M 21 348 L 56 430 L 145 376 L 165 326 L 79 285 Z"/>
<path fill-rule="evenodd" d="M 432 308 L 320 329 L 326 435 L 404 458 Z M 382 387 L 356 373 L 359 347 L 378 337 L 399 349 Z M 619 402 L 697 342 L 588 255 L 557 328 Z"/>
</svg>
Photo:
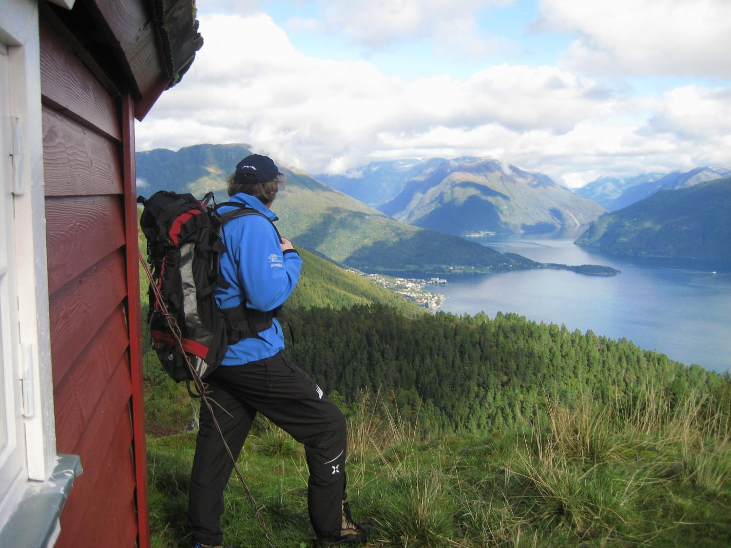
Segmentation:
<svg viewBox="0 0 731 548">
<path fill-rule="evenodd" d="M 730 164 L 731 88 L 632 99 L 567 69 L 492 66 L 407 82 L 304 56 L 267 15 L 201 18 L 205 47 L 137 126 L 139 150 L 246 142 L 308 172 L 490 156 L 577 186 Z"/>
</svg>

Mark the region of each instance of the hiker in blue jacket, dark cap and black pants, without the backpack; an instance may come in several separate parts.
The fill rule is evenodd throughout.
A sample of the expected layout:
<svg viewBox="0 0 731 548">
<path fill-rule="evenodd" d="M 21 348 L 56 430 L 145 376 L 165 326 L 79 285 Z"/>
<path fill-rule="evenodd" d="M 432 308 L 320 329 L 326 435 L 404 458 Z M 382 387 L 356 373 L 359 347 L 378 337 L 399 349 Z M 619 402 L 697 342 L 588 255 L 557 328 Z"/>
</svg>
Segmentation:
<svg viewBox="0 0 731 548">
<path fill-rule="evenodd" d="M 284 336 L 272 311 L 295 289 L 302 259 L 286 238 L 280 238 L 270 210 L 284 175 L 267 156 L 246 156 L 229 176 L 231 202 L 254 208 L 260 215 L 234 218 L 221 237 L 221 275 L 216 302 L 222 309 L 246 307 L 259 325 L 258 335 L 228 346 L 219 368 L 206 382 L 213 411 L 234 457 L 243 447 L 257 412 L 304 444 L 309 468 L 308 507 L 320 546 L 359 544 L 368 525 L 352 521 L 345 502 L 346 425 L 340 409 L 282 351 Z M 228 206 L 234 208 L 234 206 Z M 220 208 L 221 213 L 227 206 Z M 267 327 L 268 326 L 268 327 Z M 225 411 L 224 411 L 225 410 Z M 194 546 L 221 544 L 224 488 L 233 464 L 211 412 L 200 408 L 200 430 L 191 473 L 188 525 Z M 197 544 L 196 544 L 197 543 Z"/>
</svg>

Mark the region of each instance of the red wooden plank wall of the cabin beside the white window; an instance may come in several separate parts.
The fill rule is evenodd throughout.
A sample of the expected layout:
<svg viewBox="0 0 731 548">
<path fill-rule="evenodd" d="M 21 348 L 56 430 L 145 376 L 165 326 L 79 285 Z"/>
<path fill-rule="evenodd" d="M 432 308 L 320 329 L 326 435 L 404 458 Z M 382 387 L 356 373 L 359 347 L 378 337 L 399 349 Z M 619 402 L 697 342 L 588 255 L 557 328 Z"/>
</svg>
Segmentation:
<svg viewBox="0 0 731 548">
<path fill-rule="evenodd" d="M 147 546 L 132 109 L 47 23 L 41 89 L 56 444 L 84 470 L 56 546 Z"/>
</svg>

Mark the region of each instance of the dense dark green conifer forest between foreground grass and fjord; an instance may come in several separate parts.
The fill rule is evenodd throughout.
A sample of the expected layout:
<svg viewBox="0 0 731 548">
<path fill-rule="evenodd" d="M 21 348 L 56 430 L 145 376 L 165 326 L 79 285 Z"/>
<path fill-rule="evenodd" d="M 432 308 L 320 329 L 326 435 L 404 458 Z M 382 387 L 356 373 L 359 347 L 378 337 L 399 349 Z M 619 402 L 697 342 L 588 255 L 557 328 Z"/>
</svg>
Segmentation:
<svg viewBox="0 0 731 548">
<path fill-rule="evenodd" d="M 720 376 L 632 342 L 569 332 L 509 313 L 425 314 L 379 305 L 300 313 L 289 354 L 326 392 L 392 393 L 429 430 L 472 433 L 538 419 L 545 401 L 608 403 L 649 384 L 710 390 Z M 711 383 L 711 384 L 708 384 Z M 415 415 L 414 415 L 415 416 Z"/>
</svg>

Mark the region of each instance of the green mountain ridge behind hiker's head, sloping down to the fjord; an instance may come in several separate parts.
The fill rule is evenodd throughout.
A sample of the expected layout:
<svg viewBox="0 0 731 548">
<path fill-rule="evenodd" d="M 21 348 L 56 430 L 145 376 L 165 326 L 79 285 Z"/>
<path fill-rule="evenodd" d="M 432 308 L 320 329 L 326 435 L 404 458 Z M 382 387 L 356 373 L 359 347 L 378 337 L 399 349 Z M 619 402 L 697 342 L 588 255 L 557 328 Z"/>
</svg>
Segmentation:
<svg viewBox="0 0 731 548">
<path fill-rule="evenodd" d="M 226 178 L 250 153 L 248 145 L 194 145 L 178 152 L 165 149 L 138 152 L 140 194 L 164 189 L 202 197 L 215 191 L 227 199 Z M 604 267 L 543 265 L 517 254 L 501 254 L 476 242 L 410 226 L 336 191 L 305 172 L 280 166 L 287 185 L 273 210 L 281 217 L 280 232 L 334 262 L 368 272 L 507 272 L 531 268 L 570 268 L 606 275 Z M 571 194 L 571 193 L 569 193 Z"/>
</svg>

